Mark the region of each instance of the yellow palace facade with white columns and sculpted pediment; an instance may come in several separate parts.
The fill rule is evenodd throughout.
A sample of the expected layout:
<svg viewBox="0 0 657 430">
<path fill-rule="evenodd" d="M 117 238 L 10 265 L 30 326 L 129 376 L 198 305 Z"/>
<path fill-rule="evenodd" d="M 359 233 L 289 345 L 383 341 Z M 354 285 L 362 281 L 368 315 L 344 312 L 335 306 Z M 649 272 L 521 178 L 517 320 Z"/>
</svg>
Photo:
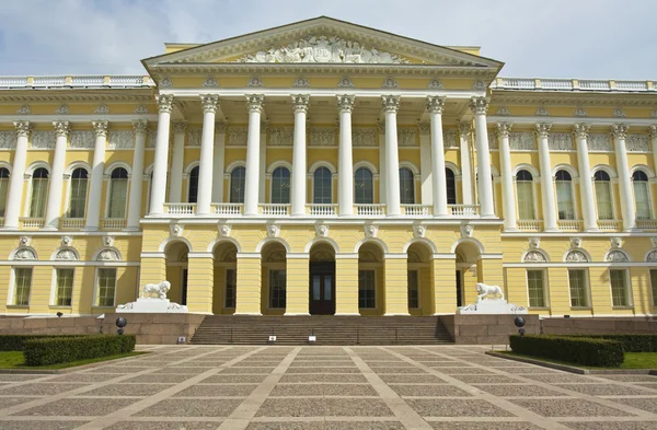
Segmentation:
<svg viewBox="0 0 657 430">
<path fill-rule="evenodd" d="M 657 82 L 318 18 L 0 77 L 0 314 L 655 314 Z"/>
</svg>

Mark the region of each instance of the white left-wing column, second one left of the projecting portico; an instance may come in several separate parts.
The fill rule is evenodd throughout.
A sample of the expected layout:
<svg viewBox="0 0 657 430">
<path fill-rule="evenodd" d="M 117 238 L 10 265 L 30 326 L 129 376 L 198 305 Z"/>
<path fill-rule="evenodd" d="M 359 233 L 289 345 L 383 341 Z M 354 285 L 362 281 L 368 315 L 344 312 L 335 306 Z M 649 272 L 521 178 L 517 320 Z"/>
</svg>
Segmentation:
<svg viewBox="0 0 657 430">
<path fill-rule="evenodd" d="M 107 143 L 107 121 L 93 121 L 95 146 L 91 165 L 89 204 L 87 206 L 87 225 L 84 230 L 99 230 L 101 223 L 101 197 L 103 196 L 103 175 L 105 174 L 105 146 Z"/>
</svg>

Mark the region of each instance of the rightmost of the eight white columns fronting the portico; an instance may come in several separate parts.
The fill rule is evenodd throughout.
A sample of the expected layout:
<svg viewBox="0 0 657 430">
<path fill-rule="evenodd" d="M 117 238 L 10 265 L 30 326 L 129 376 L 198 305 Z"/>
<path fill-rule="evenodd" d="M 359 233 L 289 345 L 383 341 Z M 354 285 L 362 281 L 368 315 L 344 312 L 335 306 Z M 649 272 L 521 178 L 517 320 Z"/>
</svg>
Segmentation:
<svg viewBox="0 0 657 430">
<path fill-rule="evenodd" d="M 480 214 L 482 218 L 495 218 L 493 178 L 491 177 L 491 149 L 488 147 L 488 129 L 486 126 L 488 101 L 485 97 L 472 97 L 470 107 L 474 114 L 476 177 L 481 204 Z"/>
</svg>

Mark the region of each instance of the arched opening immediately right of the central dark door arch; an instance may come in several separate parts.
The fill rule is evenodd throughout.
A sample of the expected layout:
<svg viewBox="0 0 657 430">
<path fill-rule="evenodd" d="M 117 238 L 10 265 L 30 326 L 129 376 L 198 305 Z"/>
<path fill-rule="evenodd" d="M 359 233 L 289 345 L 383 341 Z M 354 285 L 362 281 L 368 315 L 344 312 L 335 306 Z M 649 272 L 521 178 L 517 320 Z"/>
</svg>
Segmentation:
<svg viewBox="0 0 657 430">
<path fill-rule="evenodd" d="M 358 312 L 360 315 L 385 313 L 385 279 L 383 279 L 383 249 L 377 243 L 366 242 L 358 248 Z"/>
</svg>

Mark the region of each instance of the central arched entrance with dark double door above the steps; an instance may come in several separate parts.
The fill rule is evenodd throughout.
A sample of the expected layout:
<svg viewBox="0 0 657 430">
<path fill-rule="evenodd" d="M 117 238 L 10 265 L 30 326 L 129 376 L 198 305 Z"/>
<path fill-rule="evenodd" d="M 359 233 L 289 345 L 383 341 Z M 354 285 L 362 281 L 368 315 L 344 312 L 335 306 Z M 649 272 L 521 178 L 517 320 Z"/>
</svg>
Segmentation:
<svg viewBox="0 0 657 430">
<path fill-rule="evenodd" d="M 320 242 L 310 248 L 310 292 L 308 310 L 311 315 L 335 314 L 335 249 Z"/>
</svg>

